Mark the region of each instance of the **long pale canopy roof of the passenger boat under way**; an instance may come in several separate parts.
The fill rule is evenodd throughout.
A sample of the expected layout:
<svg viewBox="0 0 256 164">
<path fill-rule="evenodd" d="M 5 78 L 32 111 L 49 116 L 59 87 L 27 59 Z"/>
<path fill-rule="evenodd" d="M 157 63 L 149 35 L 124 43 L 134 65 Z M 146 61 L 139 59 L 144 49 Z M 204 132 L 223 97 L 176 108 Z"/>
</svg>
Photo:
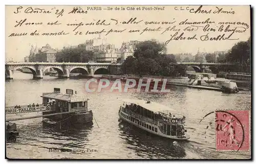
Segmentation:
<svg viewBox="0 0 256 164">
<path fill-rule="evenodd" d="M 169 112 L 174 112 L 176 110 L 171 109 L 165 105 L 156 103 L 156 102 L 152 102 L 152 101 L 145 101 L 145 100 L 137 100 L 137 99 L 126 99 L 123 100 L 126 103 L 132 103 L 132 104 L 136 104 L 139 105 L 147 110 L 151 110 L 153 112 L 161 112 L 161 111 L 169 111 Z"/>
</svg>

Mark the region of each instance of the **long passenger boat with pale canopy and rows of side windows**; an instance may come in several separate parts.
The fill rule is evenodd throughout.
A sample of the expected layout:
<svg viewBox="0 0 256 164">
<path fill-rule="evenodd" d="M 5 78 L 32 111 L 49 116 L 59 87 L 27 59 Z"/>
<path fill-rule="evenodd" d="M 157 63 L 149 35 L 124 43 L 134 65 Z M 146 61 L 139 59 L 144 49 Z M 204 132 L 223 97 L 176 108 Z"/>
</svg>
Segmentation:
<svg viewBox="0 0 256 164">
<path fill-rule="evenodd" d="M 177 140 L 187 140 L 185 116 L 164 105 L 144 100 L 124 100 L 120 106 L 122 120 L 147 132 Z"/>
</svg>

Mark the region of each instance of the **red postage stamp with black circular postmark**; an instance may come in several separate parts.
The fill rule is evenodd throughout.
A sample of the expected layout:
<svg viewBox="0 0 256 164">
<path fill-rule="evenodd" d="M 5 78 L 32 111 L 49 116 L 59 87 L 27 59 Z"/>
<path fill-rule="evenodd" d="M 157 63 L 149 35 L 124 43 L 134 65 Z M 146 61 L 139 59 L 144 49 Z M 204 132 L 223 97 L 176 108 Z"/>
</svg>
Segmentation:
<svg viewBox="0 0 256 164">
<path fill-rule="evenodd" d="M 216 111 L 216 150 L 249 150 L 249 111 Z"/>
</svg>

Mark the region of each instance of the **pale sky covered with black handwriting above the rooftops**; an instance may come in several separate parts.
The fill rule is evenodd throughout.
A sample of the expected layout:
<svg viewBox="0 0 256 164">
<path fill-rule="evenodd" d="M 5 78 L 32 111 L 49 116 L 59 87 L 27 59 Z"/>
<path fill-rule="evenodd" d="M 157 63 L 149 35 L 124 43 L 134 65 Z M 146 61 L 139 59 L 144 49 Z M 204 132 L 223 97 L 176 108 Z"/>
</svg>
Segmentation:
<svg viewBox="0 0 256 164">
<path fill-rule="evenodd" d="M 31 8 L 30 8 L 31 7 Z M 77 45 L 79 43 L 86 42 L 88 39 L 98 37 L 99 34 L 87 34 L 87 31 L 90 32 L 108 32 L 112 30 L 108 35 L 101 33 L 101 37 L 105 37 L 108 43 L 115 44 L 116 48 L 121 47 L 122 42 L 129 40 L 148 40 L 148 39 L 157 39 L 160 42 L 166 42 L 172 36 L 178 32 L 177 36 L 184 32 L 183 37 L 185 40 L 170 40 L 166 44 L 168 54 L 177 54 L 177 53 L 192 53 L 195 55 L 198 51 L 200 52 L 214 52 L 214 51 L 227 51 L 232 48 L 232 46 L 239 41 L 246 41 L 250 37 L 250 8 L 249 6 L 217 6 L 221 11 L 228 11 L 227 13 L 216 13 L 218 8 L 216 6 L 203 6 L 199 11 L 195 11 L 199 6 L 79 6 L 84 12 L 87 13 L 71 13 L 74 6 L 6 6 L 6 59 L 13 59 L 13 61 L 24 61 L 24 57 L 29 55 L 31 45 L 41 46 L 49 43 L 54 49 L 62 49 L 63 46 L 68 45 Z M 109 7 L 109 10 L 108 10 Z M 125 10 L 121 10 L 123 7 Z M 139 8 L 140 7 L 140 8 Z M 154 10 L 155 7 L 163 10 Z M 17 9 L 19 8 L 19 9 Z M 36 11 L 36 8 L 49 10 L 51 13 L 26 13 Z M 101 8 L 101 10 L 99 10 Z M 112 8 L 112 10 L 111 10 Z M 119 8 L 119 10 L 115 10 Z M 62 16 L 55 14 L 56 10 L 59 13 L 63 9 Z M 105 9 L 105 10 L 104 10 Z M 138 10 L 137 10 L 138 9 Z M 140 10 L 139 10 L 140 9 Z M 142 10 L 143 9 L 143 10 Z M 181 10 L 183 9 L 183 10 Z M 194 10 L 193 10 L 194 9 Z M 26 12 L 25 12 L 26 11 Z M 40 11 L 37 9 L 37 11 Z M 81 11 L 81 10 L 80 10 Z M 193 12 L 194 13 L 191 13 Z M 18 12 L 18 13 L 17 13 Z M 208 12 L 208 13 L 205 13 Z M 234 14 L 232 14 L 232 12 Z M 58 17 L 57 17 L 58 16 Z M 127 22 L 131 18 L 136 18 L 137 24 L 132 22 L 132 24 L 122 24 L 122 22 Z M 18 22 L 26 21 L 21 25 L 15 27 Z M 111 20 L 115 19 L 115 20 Z M 186 20 L 187 19 L 187 20 Z M 180 22 L 202 22 L 205 20 L 212 21 L 209 24 L 209 31 L 203 31 L 203 28 L 207 24 L 194 24 L 194 27 L 191 28 L 191 25 L 179 25 Z M 103 25 L 91 25 L 86 26 L 85 24 L 90 24 L 90 22 L 96 22 L 100 20 L 105 20 Z M 48 22 L 55 22 L 60 25 L 47 25 Z M 153 24 L 147 24 L 147 22 L 155 22 Z M 162 25 L 162 22 L 174 22 L 173 24 Z M 239 33 L 234 32 L 230 39 L 238 40 L 218 40 L 218 41 L 202 41 L 200 36 L 207 35 L 210 37 L 217 37 L 218 35 L 225 34 L 225 37 L 230 35 L 232 31 L 225 32 L 225 28 L 228 25 L 224 25 L 223 31 L 220 32 L 221 25 L 219 22 L 231 22 L 236 25 L 230 24 L 229 30 L 237 27 L 237 30 L 245 30 L 245 32 Z M 32 23 L 34 22 L 34 25 Z M 117 25 L 115 25 L 117 22 Z M 160 22 L 160 24 L 156 24 Z M 243 22 L 243 24 L 241 23 Z M 25 25 L 30 23 L 30 25 Z M 35 25 L 37 23 L 37 25 Z M 67 26 L 67 24 L 84 24 L 84 26 L 79 26 L 75 31 L 75 26 Z M 41 25 L 38 25 L 41 24 Z M 248 26 L 246 26 L 246 24 Z M 175 28 L 174 28 L 175 26 Z M 160 27 L 160 30 L 157 29 Z M 187 27 L 194 29 L 191 31 L 184 31 Z M 167 28 L 174 28 L 176 31 L 165 31 Z M 210 31 L 210 28 L 215 31 Z M 123 32 L 114 32 L 115 30 L 124 30 Z M 142 34 L 140 34 L 144 29 Z M 180 31 L 178 31 L 180 29 Z M 198 30 L 195 30 L 198 29 Z M 139 32 L 129 33 L 130 30 L 140 30 Z M 32 32 L 39 33 L 38 36 L 31 36 Z M 42 36 L 42 33 L 55 33 L 55 32 L 65 32 L 69 33 L 68 35 L 59 35 L 59 36 Z M 165 32 L 164 32 L 165 31 Z M 75 33 L 78 32 L 78 35 Z M 82 35 L 79 35 L 79 32 L 82 32 Z M 164 33 L 163 33 L 164 32 Z M 11 34 L 20 34 L 27 33 L 26 36 L 10 36 Z M 106 36 L 105 36 L 106 35 Z M 188 37 L 193 37 L 196 35 L 197 40 L 188 40 Z"/>
</svg>

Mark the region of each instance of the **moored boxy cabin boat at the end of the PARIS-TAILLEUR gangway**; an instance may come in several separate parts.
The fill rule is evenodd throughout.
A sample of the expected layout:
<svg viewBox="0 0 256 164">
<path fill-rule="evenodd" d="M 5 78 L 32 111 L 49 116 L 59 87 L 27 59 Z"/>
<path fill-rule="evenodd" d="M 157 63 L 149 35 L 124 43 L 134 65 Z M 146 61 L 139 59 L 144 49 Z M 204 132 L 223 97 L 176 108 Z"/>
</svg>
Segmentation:
<svg viewBox="0 0 256 164">
<path fill-rule="evenodd" d="M 63 94 L 59 88 L 54 88 L 54 92 L 42 93 L 41 97 L 46 107 L 54 108 L 42 112 L 45 124 L 54 125 L 61 122 L 74 125 L 93 121 L 93 112 L 88 111 L 88 99 L 76 96 L 72 89 L 66 89 L 66 94 Z M 51 115 L 54 113 L 56 115 Z"/>
</svg>

